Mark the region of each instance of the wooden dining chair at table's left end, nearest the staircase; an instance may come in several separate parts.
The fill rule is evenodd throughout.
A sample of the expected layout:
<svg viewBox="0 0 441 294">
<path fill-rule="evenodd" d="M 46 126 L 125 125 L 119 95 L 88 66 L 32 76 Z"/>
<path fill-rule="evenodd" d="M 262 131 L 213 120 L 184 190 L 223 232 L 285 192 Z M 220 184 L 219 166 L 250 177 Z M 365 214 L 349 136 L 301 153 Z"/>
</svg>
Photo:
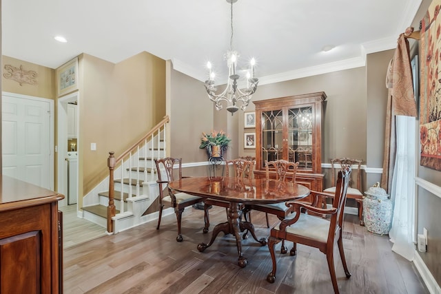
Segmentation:
<svg viewBox="0 0 441 294">
<path fill-rule="evenodd" d="M 182 213 L 185 207 L 196 204 L 198 202 L 202 202 L 203 198 L 198 196 L 189 195 L 187 193 L 173 193 L 171 189 L 168 187 L 167 183 L 172 182 L 174 180 L 181 180 L 185 178 L 182 176 L 182 158 L 161 158 L 155 159 L 154 163 L 156 164 L 156 171 L 158 174 L 158 182 L 159 185 L 159 202 L 161 207 L 159 209 L 159 218 L 158 218 L 158 227 L 161 224 L 161 217 L 163 214 L 163 207 L 173 207 L 174 213 L 176 213 L 176 219 L 178 221 L 178 237 L 176 237 L 176 241 L 182 242 L 183 238 L 181 235 L 181 218 Z M 174 171 L 174 168 L 177 168 L 177 171 Z M 165 187 L 167 186 L 167 187 Z"/>
</svg>

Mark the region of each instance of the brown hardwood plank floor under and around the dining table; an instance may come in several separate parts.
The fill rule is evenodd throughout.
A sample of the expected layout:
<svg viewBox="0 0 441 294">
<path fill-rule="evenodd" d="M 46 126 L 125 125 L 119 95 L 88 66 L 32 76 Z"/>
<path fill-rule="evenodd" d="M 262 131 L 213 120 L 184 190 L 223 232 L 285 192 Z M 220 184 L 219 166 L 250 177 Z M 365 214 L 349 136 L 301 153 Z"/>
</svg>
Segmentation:
<svg viewBox="0 0 441 294">
<path fill-rule="evenodd" d="M 236 241 L 220 233 L 214 244 L 200 253 L 196 246 L 208 242 L 214 224 L 225 222 L 223 207 L 209 210 L 212 226 L 202 233 L 203 211 L 183 213 L 184 241 L 176 242 L 176 216 L 64 250 L 65 293 L 333 293 L 326 257 L 317 249 L 298 245 L 298 255 L 280 254 L 276 246 L 276 282 L 265 279 L 271 271 L 267 246 L 252 238 L 243 241 L 248 265 L 237 265 Z M 253 211 L 258 237 L 267 236 L 265 213 Z M 277 219 L 269 216 L 275 224 Z M 340 293 L 429 293 L 413 263 L 391 251 L 389 238 L 368 233 L 357 216 L 345 216 L 344 246 L 352 276 L 346 279 L 338 250 L 335 254 Z M 66 238 L 69 238 L 66 236 Z M 287 244 L 290 249 L 291 243 Z"/>
</svg>

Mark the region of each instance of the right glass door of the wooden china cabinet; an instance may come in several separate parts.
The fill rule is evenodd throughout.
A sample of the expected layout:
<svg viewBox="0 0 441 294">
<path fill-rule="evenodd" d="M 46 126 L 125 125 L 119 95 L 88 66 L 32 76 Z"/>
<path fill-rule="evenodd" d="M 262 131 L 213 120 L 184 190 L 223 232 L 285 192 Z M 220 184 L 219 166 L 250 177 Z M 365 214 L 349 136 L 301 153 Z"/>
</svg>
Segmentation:
<svg viewBox="0 0 441 294">
<path fill-rule="evenodd" d="M 312 169 L 312 106 L 288 109 L 288 160 L 299 162 L 299 169 Z"/>
</svg>

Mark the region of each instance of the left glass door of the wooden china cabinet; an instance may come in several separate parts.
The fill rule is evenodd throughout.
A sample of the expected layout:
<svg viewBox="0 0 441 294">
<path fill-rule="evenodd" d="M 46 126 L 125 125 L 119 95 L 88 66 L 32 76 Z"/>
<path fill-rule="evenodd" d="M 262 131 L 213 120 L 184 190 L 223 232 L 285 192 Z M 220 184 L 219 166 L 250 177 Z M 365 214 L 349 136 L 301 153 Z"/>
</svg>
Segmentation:
<svg viewBox="0 0 441 294">
<path fill-rule="evenodd" d="M 265 160 L 283 159 L 283 110 L 262 112 L 260 123 L 262 127 L 262 154 L 260 155 L 262 168 L 265 168 Z"/>
</svg>

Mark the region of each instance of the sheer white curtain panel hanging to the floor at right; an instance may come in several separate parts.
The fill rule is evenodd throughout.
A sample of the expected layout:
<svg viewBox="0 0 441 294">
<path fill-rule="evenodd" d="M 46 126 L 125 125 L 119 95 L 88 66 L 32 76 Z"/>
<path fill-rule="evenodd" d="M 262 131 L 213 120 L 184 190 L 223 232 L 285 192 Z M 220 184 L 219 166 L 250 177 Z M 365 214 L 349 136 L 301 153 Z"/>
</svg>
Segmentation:
<svg viewBox="0 0 441 294">
<path fill-rule="evenodd" d="M 389 237 L 392 251 L 407 260 L 413 260 L 415 253 L 415 162 L 416 118 L 396 116 L 396 161 L 391 185 L 393 220 Z"/>
</svg>

